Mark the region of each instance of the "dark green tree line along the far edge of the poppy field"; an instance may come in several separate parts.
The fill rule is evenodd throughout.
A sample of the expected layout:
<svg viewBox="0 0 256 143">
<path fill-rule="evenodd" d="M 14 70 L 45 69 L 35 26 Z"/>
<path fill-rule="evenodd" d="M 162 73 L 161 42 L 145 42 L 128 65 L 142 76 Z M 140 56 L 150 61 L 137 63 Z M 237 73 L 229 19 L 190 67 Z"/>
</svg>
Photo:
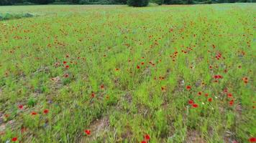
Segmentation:
<svg viewBox="0 0 256 143">
<path fill-rule="evenodd" d="M 0 5 L 29 4 L 128 4 L 129 6 L 147 6 L 156 4 L 216 4 L 234 2 L 256 2 L 256 0 L 0 0 Z"/>
</svg>

